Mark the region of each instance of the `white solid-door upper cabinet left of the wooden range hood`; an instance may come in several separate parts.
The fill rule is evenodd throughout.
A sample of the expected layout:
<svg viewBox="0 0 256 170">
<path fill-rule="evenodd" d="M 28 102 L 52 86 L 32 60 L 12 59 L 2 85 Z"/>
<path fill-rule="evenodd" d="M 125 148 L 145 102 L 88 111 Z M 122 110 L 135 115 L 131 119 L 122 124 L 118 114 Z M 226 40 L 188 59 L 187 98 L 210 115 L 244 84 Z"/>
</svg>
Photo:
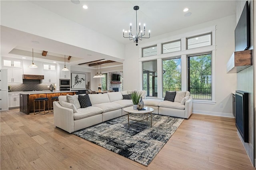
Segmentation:
<svg viewBox="0 0 256 170">
<path fill-rule="evenodd" d="M 2 67 L 7 69 L 8 83 L 22 83 L 22 68 Z"/>
</svg>

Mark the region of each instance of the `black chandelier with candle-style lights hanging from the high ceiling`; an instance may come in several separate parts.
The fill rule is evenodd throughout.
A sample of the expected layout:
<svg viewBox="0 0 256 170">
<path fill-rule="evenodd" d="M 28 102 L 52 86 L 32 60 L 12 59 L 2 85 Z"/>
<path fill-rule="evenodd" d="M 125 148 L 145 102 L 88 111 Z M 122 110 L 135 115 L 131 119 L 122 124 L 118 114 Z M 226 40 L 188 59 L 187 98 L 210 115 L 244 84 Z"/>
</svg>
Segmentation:
<svg viewBox="0 0 256 170">
<path fill-rule="evenodd" d="M 129 32 L 129 36 L 128 37 L 124 36 L 124 33 L 127 33 L 127 31 L 123 30 L 124 38 L 129 38 L 129 40 L 133 40 L 133 42 L 136 42 L 136 45 L 138 45 L 138 40 L 142 40 L 142 38 L 150 38 L 150 30 L 148 31 L 148 37 L 143 37 L 143 36 L 145 36 L 145 32 L 146 32 L 146 29 L 145 29 L 146 24 L 144 24 L 144 29 L 141 30 L 140 29 L 140 23 L 139 23 L 139 30 L 138 30 L 138 26 L 137 26 L 137 10 L 139 8 L 140 8 L 139 6 L 134 6 L 133 7 L 133 9 L 136 10 L 136 34 L 135 35 L 132 34 L 132 23 L 130 24 L 130 30 L 128 30 L 128 32 Z"/>
</svg>

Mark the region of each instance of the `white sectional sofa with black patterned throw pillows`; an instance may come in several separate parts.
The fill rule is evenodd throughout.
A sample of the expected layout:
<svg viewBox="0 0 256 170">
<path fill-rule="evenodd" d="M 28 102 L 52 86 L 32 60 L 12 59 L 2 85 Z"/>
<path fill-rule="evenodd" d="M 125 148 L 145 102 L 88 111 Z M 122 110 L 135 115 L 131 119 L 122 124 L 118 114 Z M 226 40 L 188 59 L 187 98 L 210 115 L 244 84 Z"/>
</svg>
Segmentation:
<svg viewBox="0 0 256 170">
<path fill-rule="evenodd" d="M 146 92 L 142 92 L 144 106 L 152 107 L 154 114 L 188 119 L 192 113 L 192 97 L 189 96 L 189 92 L 186 93 L 188 100 L 184 102 L 184 105 L 179 102 L 145 99 Z M 92 106 L 86 108 L 80 108 L 80 105 L 76 105 L 76 108 L 75 105 L 68 103 L 66 96 L 59 96 L 59 101 L 53 102 L 54 125 L 72 133 L 76 130 L 126 115 L 124 108 L 133 105 L 132 100 L 123 99 L 123 95 L 128 95 L 128 93 L 128 91 L 122 91 L 88 94 Z"/>
</svg>

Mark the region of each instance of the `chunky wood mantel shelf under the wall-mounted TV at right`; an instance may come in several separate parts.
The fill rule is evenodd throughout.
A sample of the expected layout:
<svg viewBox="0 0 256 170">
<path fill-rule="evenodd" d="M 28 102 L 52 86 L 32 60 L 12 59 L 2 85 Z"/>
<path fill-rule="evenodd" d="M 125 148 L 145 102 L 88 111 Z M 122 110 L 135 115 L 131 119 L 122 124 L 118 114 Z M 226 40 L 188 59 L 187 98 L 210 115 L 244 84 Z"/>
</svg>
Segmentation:
<svg viewBox="0 0 256 170">
<path fill-rule="evenodd" d="M 227 63 L 227 73 L 238 73 L 252 65 L 252 49 L 234 52 Z"/>
</svg>

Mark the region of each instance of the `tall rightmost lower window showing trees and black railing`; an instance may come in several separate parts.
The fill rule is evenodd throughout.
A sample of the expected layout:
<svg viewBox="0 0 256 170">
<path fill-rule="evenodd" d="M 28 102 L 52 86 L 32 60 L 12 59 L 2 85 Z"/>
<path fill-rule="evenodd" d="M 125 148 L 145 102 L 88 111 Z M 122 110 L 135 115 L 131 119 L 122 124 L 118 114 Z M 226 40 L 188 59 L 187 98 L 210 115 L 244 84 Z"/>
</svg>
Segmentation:
<svg viewBox="0 0 256 170">
<path fill-rule="evenodd" d="M 212 54 L 188 57 L 188 91 L 193 99 L 212 100 Z"/>
</svg>

